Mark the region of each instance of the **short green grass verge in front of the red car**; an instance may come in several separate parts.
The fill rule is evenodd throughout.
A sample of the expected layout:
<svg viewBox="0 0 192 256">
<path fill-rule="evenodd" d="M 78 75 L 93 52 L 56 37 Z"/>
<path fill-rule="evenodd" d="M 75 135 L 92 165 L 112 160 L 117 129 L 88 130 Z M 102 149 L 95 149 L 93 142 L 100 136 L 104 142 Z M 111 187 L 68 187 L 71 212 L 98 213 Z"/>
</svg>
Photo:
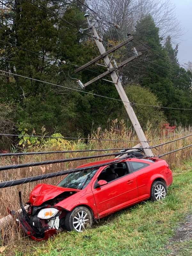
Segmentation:
<svg viewBox="0 0 192 256">
<path fill-rule="evenodd" d="M 192 162 L 174 170 L 174 181 L 161 202 L 142 202 L 94 224 L 83 233 L 62 232 L 54 238 L 35 243 L 21 242 L 13 254 L 20 256 L 163 256 L 169 255 L 168 239 L 174 229 L 192 213 Z M 26 242 L 30 243 L 26 247 Z M 178 256 L 192 255 L 179 252 Z M 24 245 L 25 244 L 25 245 Z M 33 246 L 34 247 L 33 247 Z M 180 245 L 181 247 L 183 245 Z M 186 249 L 188 250 L 188 249 Z M 14 251 L 14 252 L 13 252 Z M 10 252 L 11 253 L 11 252 Z M 182 254 L 183 253 L 183 254 Z"/>
</svg>

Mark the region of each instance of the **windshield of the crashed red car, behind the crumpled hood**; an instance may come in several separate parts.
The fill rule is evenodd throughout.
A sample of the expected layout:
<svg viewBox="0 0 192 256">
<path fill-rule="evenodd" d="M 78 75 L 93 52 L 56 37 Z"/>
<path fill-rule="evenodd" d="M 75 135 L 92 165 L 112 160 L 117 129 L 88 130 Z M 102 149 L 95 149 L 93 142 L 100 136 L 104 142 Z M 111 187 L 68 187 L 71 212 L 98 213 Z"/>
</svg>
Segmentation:
<svg viewBox="0 0 192 256">
<path fill-rule="evenodd" d="M 84 189 L 98 169 L 99 168 L 90 168 L 80 172 L 69 173 L 57 186 L 62 188 Z"/>
</svg>

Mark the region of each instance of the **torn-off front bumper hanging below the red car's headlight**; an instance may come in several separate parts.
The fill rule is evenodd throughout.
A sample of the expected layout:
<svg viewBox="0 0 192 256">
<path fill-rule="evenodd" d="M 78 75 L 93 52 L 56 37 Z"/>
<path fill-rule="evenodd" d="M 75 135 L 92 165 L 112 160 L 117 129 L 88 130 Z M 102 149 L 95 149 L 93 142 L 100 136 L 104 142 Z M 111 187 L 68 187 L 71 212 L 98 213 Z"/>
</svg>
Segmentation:
<svg viewBox="0 0 192 256">
<path fill-rule="evenodd" d="M 22 212 L 19 216 L 20 227 L 31 239 L 35 241 L 42 241 L 48 239 L 50 236 L 53 236 L 57 233 L 55 228 L 50 228 L 44 221 L 40 220 L 36 216 L 29 216 L 28 212 L 25 210 L 22 201 L 21 201 L 21 193 L 19 193 L 20 197 L 20 206 Z"/>
</svg>

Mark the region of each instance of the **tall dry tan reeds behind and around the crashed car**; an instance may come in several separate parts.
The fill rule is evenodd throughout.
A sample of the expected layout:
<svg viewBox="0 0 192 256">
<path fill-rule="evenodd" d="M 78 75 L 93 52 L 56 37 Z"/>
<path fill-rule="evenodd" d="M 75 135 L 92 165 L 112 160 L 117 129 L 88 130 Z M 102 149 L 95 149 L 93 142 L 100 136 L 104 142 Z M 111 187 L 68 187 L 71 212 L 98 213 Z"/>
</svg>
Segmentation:
<svg viewBox="0 0 192 256">
<path fill-rule="evenodd" d="M 165 137 L 167 135 L 172 135 L 172 133 L 168 133 L 165 130 L 160 128 L 151 129 L 150 124 L 147 125 L 147 130 L 145 132 L 147 140 L 154 140 L 159 137 Z M 174 133 L 181 133 L 177 134 L 176 136 L 172 136 L 169 138 L 164 138 L 161 140 L 156 140 L 150 142 L 150 146 L 157 145 L 159 143 L 167 142 L 169 140 L 177 139 L 183 137 L 185 135 L 190 134 L 192 127 L 181 127 L 178 126 Z M 131 128 L 127 128 L 125 123 L 122 121 L 118 123 L 116 120 L 112 122 L 112 124 L 105 129 L 104 131 L 98 128 L 96 132 L 92 132 L 90 138 L 96 139 L 114 139 L 114 140 L 138 140 L 135 132 Z M 178 140 L 173 143 L 169 143 L 164 145 L 162 148 L 159 148 L 157 151 L 153 149 L 154 155 L 160 155 L 165 152 L 172 151 L 177 148 L 184 147 L 186 145 L 191 144 L 192 137 L 188 137 L 183 140 Z M 103 141 L 103 140 L 89 140 L 85 143 L 82 140 L 78 140 L 75 142 L 71 142 L 71 150 L 77 149 L 101 149 L 101 148 L 131 148 L 135 146 L 137 142 L 126 142 L 126 141 Z M 56 148 L 44 148 L 46 151 L 55 150 Z M 68 148 L 69 149 L 69 148 Z M 35 149 L 30 149 L 34 151 Z M 10 165 L 10 164 L 21 164 L 21 163 L 30 163 L 30 162 L 37 162 L 37 161 L 45 161 L 45 160 L 54 160 L 60 158 L 69 158 L 69 157 L 76 157 L 76 156 L 88 156 L 88 155 L 96 155 L 100 154 L 100 152 L 88 152 L 88 153 L 70 153 L 70 154 L 50 154 L 50 155 L 31 155 L 31 156 L 21 156 L 21 157 L 1 157 L 0 158 L 0 165 Z M 175 167 L 180 166 L 185 159 L 189 159 L 192 156 L 191 148 L 186 148 L 182 151 L 178 151 L 172 153 L 168 156 L 165 156 L 164 159 L 169 164 L 170 168 L 174 170 Z M 101 159 L 101 158 L 99 158 Z M 93 159 L 96 161 L 97 159 Z M 42 173 L 49 173 L 49 172 L 58 172 L 60 170 L 66 170 L 69 168 L 75 168 L 78 165 L 92 162 L 92 160 L 80 160 L 74 161 L 69 163 L 61 163 L 61 164 L 50 164 L 44 166 L 34 166 L 28 168 L 21 168 L 21 169 L 12 169 L 3 171 L 0 173 L 0 181 L 6 180 L 15 180 L 24 177 L 36 176 Z M 14 186 L 10 188 L 0 189 L 0 219 L 7 215 L 6 208 L 11 210 L 18 210 L 20 208 L 19 199 L 18 199 L 18 192 L 19 190 L 22 191 L 22 198 L 23 202 L 28 201 L 29 192 L 39 183 L 47 183 L 55 185 L 62 177 L 51 178 L 43 181 L 35 181 L 19 186 Z M 22 237 L 23 233 L 21 232 L 20 228 L 12 222 L 10 225 L 5 225 L 1 229 L 1 236 L 0 236 L 0 243 L 1 244 L 10 244 L 14 240 Z"/>
</svg>

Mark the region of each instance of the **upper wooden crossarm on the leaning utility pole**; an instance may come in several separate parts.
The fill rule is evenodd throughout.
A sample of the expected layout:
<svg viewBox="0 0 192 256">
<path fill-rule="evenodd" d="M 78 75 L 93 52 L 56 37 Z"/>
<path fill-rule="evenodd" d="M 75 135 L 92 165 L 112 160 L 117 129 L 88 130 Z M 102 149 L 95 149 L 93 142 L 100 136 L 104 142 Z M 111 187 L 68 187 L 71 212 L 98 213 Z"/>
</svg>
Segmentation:
<svg viewBox="0 0 192 256">
<path fill-rule="evenodd" d="M 95 63 L 98 60 L 101 60 L 103 57 L 107 56 L 109 53 L 111 52 L 115 52 L 117 49 L 121 48 L 122 46 L 124 46 L 125 44 L 131 42 L 134 39 L 133 36 L 129 37 L 126 41 L 114 46 L 113 48 L 109 49 L 107 52 L 102 53 L 101 55 L 97 56 L 95 59 L 90 60 L 89 62 L 87 62 L 86 64 L 84 64 L 83 66 L 77 68 L 74 73 L 77 73 L 79 71 L 81 71 L 84 68 L 87 68 L 88 66 L 92 65 L 93 63 Z"/>
</svg>

